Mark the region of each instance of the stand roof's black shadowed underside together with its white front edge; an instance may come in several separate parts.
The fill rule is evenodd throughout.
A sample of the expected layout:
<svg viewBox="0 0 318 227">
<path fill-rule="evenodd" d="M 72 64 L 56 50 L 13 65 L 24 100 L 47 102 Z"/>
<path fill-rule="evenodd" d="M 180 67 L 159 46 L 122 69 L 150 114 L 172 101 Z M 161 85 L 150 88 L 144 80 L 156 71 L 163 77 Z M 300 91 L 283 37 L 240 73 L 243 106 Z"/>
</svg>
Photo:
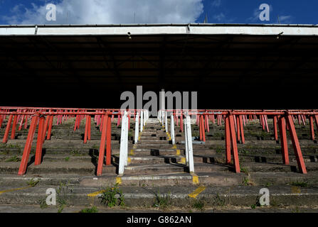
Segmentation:
<svg viewBox="0 0 318 227">
<path fill-rule="evenodd" d="M 54 28 L 55 32 L 67 29 L 49 27 Z M 24 100 L 6 96 L 3 104 L 117 108 L 121 104 L 120 93 L 134 92 L 137 85 L 142 85 L 144 91 L 198 91 L 198 99 L 211 96 L 208 103 L 199 100 L 198 108 L 203 109 L 301 108 L 299 101 L 304 96 L 315 95 L 312 90 L 317 88 L 318 72 L 315 35 L 318 28 L 315 26 L 247 27 L 275 28 L 275 33 L 260 35 L 228 31 L 194 33 L 194 28 L 226 29 L 222 26 L 190 26 L 191 32 L 180 34 L 137 34 L 132 29 L 150 26 L 102 28 L 124 28 L 125 31 L 117 30 L 113 35 L 102 32 L 44 35 L 41 29 L 45 28 L 38 27 L 36 35 L 4 35 L 4 27 L 0 28 L 1 84 L 6 84 L 1 93 L 8 94 L 14 89 L 23 94 Z M 188 26 L 173 28 L 187 30 Z M 314 32 L 286 35 L 291 33 L 287 28 L 296 33 L 297 29 L 304 28 Z M 124 35 L 118 34 L 120 32 Z M 131 33 L 130 38 L 127 32 Z M 233 99 L 223 98 L 224 94 L 233 94 Z M 249 106 L 244 101 L 251 95 L 260 98 L 258 106 Z M 100 97 L 112 97 L 113 101 L 107 99 L 109 104 L 105 104 L 106 101 L 101 104 Z M 84 98 L 90 99 L 90 103 L 83 103 Z M 284 101 L 279 103 L 277 98 Z"/>
</svg>

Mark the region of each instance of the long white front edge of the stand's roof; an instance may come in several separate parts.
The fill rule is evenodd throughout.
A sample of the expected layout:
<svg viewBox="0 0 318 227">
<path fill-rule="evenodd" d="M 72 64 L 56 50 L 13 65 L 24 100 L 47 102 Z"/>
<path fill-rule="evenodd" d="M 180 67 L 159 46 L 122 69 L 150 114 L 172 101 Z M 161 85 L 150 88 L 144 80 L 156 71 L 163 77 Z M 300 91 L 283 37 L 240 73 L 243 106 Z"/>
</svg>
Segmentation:
<svg viewBox="0 0 318 227">
<path fill-rule="evenodd" d="M 318 35 L 317 25 L 281 24 L 111 24 L 10 25 L 0 35 Z"/>
</svg>

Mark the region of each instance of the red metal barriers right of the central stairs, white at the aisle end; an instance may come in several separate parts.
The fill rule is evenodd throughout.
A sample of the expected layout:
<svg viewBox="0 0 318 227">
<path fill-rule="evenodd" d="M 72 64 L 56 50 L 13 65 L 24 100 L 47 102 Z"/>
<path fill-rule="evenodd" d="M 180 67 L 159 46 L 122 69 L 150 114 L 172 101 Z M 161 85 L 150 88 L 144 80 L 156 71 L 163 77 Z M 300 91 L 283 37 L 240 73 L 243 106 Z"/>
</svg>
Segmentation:
<svg viewBox="0 0 318 227">
<path fill-rule="evenodd" d="M 168 110 L 169 111 L 169 110 Z M 168 111 L 159 111 L 159 121 L 164 125 L 167 124 L 166 116 Z M 286 130 L 290 132 L 290 138 L 292 140 L 292 145 L 294 148 L 297 165 L 300 172 L 303 174 L 307 173 L 306 167 L 304 165 L 304 159 L 302 157 L 302 150 L 300 148 L 300 143 L 297 138 L 297 132 L 295 129 L 295 121 L 299 124 L 305 125 L 306 119 L 309 118 L 309 128 L 310 128 L 310 138 L 314 140 L 314 121 L 318 130 L 318 111 L 312 110 L 288 110 L 288 111 L 264 111 L 264 110 L 237 110 L 237 111 L 224 111 L 224 110 L 209 110 L 209 111 L 191 111 L 189 110 L 170 110 L 171 112 L 171 140 L 174 140 L 174 121 L 176 121 L 176 126 L 178 126 L 178 119 L 180 120 L 180 129 L 183 132 L 183 116 L 187 115 L 196 116 L 196 124 L 199 127 L 200 140 L 205 142 L 206 135 L 205 132 L 209 131 L 208 120 L 213 123 L 218 123 L 221 126 L 222 122 L 225 124 L 225 140 L 226 140 L 226 163 L 230 164 L 231 155 L 233 156 L 233 164 L 235 172 L 240 172 L 240 164 L 238 160 L 238 145 L 237 142 L 245 143 L 244 137 L 244 126 L 248 121 L 253 121 L 259 119 L 260 125 L 263 131 L 269 132 L 267 118 L 268 116 L 273 118 L 274 125 L 274 136 L 275 140 L 278 141 L 277 133 L 277 123 L 280 129 L 280 143 L 282 146 L 282 162 L 285 165 L 289 165 L 290 160 L 288 157 L 288 147 L 287 147 L 287 133 Z M 211 113 L 212 112 L 212 113 Z M 216 116 L 216 118 L 214 118 Z M 165 127 L 167 130 L 167 127 Z M 173 132 L 173 133 L 172 133 Z M 185 132 L 185 135 L 187 131 Z M 187 135 L 186 135 L 187 138 Z M 191 140 L 192 141 L 192 140 Z M 186 141 L 186 150 L 189 141 Z M 191 142 L 192 144 L 192 142 Z M 186 151 L 187 152 L 187 151 Z"/>
</svg>

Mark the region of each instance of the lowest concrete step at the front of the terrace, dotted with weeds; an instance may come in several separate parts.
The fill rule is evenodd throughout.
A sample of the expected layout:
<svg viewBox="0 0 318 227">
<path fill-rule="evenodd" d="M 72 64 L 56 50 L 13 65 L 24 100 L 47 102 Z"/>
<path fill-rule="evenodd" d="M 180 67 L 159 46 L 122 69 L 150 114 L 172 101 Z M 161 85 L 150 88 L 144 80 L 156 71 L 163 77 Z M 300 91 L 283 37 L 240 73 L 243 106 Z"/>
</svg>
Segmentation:
<svg viewBox="0 0 318 227">
<path fill-rule="evenodd" d="M 46 199 L 47 186 L 30 187 L 23 190 L 6 192 L 0 196 L 0 204 L 39 205 Z M 58 189 L 56 186 L 52 186 Z M 120 190 L 124 194 L 124 203 L 127 207 L 154 206 L 157 196 L 166 196 L 168 206 L 184 207 L 191 209 L 195 201 L 204 201 L 205 207 L 216 206 L 255 206 L 259 197 L 260 189 L 263 187 L 253 186 L 230 186 L 230 187 L 206 187 L 196 199 L 189 197 L 197 186 L 183 185 L 177 187 L 132 187 L 123 186 Z M 1 186 L 0 190 L 9 190 L 11 187 Z M 275 185 L 268 187 L 270 191 L 270 205 L 279 206 L 317 206 L 317 188 L 290 187 L 286 185 Z M 100 187 L 63 187 L 60 199 L 64 199 L 68 206 L 92 206 L 100 204 L 100 194 L 95 199 L 88 196 L 93 192 L 100 191 Z"/>
</svg>

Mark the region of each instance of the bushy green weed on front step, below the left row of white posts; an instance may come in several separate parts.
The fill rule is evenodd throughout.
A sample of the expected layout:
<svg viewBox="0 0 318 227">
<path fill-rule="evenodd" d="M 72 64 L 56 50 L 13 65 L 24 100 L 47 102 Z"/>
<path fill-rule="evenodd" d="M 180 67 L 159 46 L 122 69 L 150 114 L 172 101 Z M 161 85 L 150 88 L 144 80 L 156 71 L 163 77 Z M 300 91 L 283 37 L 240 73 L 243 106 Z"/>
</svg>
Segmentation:
<svg viewBox="0 0 318 227">
<path fill-rule="evenodd" d="M 104 189 L 100 198 L 101 203 L 108 207 L 124 206 L 124 194 L 122 190 L 118 188 L 118 184 L 115 184 L 114 187 Z"/>
</svg>

